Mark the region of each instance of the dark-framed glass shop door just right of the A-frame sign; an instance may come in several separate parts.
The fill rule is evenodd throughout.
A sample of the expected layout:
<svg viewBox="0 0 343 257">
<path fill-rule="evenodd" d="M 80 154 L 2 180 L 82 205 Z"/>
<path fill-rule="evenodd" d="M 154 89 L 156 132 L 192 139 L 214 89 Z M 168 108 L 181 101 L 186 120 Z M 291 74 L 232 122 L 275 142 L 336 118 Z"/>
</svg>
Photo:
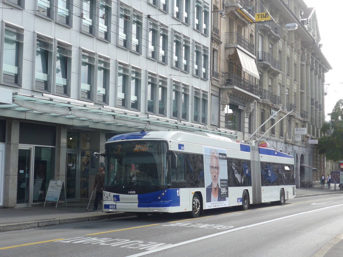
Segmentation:
<svg viewBox="0 0 343 257">
<path fill-rule="evenodd" d="M 67 202 L 77 201 L 80 181 L 79 151 L 67 151 Z"/>
</svg>

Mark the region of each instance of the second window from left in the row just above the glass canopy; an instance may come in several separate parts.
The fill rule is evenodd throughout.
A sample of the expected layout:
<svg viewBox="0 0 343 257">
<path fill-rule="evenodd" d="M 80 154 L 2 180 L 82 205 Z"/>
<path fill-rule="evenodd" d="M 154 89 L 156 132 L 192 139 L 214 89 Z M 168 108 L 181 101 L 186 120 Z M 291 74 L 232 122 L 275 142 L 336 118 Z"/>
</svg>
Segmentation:
<svg viewBox="0 0 343 257">
<path fill-rule="evenodd" d="M 37 34 L 35 89 L 51 92 L 53 39 Z"/>
</svg>

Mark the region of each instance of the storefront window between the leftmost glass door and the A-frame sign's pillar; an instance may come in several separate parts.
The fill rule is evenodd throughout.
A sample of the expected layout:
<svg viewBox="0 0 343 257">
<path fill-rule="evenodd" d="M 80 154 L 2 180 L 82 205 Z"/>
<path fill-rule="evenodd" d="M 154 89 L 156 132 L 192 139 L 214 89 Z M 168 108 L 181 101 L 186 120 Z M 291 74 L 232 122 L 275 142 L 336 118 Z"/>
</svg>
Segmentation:
<svg viewBox="0 0 343 257">
<path fill-rule="evenodd" d="M 45 199 L 49 181 L 54 179 L 55 148 L 35 147 L 33 170 L 32 203 L 41 203 Z"/>
</svg>

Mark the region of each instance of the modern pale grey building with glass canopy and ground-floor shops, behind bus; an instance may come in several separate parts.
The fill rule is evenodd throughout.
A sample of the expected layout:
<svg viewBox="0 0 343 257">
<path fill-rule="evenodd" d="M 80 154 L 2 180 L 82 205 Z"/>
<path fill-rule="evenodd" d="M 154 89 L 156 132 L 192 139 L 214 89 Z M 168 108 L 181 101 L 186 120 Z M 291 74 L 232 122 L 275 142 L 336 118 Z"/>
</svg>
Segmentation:
<svg viewBox="0 0 343 257">
<path fill-rule="evenodd" d="M 203 0 L 0 3 L 0 206 L 50 180 L 87 200 L 93 152 L 133 131 L 209 128 L 211 5 Z"/>
</svg>

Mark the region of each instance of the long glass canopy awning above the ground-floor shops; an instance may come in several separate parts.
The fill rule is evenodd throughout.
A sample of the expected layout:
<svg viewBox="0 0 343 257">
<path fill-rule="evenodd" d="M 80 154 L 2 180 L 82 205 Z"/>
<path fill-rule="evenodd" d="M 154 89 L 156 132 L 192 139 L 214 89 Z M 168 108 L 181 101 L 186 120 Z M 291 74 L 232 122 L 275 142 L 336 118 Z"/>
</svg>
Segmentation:
<svg viewBox="0 0 343 257">
<path fill-rule="evenodd" d="M 167 129 L 201 131 L 236 139 L 235 131 L 211 129 L 205 125 L 169 119 L 156 115 L 141 113 L 103 105 L 94 107 L 94 103 L 67 97 L 42 94 L 42 97 L 13 93 L 11 104 L 0 105 L 0 110 L 12 110 L 48 115 L 51 118 L 78 119 L 90 122 L 113 124 L 135 129 L 150 129 L 149 124 L 162 125 Z M 51 119 L 51 122 L 54 122 Z"/>
</svg>

